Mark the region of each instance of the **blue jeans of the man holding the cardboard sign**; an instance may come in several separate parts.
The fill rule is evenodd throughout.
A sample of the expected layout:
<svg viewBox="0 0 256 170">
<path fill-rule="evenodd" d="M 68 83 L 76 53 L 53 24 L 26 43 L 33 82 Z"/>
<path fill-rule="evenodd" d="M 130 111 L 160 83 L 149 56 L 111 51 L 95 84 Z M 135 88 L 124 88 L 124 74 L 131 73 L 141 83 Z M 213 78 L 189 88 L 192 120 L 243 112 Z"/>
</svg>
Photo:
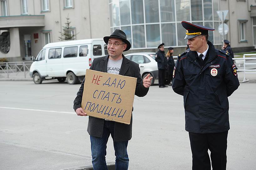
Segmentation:
<svg viewBox="0 0 256 170">
<path fill-rule="evenodd" d="M 94 170 L 107 170 L 106 154 L 107 142 L 111 134 L 114 138 L 115 122 L 104 121 L 102 138 L 90 136 L 91 152 L 92 152 L 92 165 Z M 127 154 L 128 141 L 114 141 L 115 149 L 115 169 L 126 170 L 129 165 L 129 158 Z"/>
</svg>

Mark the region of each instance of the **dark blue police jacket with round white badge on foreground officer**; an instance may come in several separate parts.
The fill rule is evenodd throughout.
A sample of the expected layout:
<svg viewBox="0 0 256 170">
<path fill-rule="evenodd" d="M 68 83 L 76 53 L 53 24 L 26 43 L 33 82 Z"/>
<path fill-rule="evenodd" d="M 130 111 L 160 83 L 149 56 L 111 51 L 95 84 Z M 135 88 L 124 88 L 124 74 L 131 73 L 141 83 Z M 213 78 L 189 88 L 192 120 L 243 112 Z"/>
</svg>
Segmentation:
<svg viewBox="0 0 256 170">
<path fill-rule="evenodd" d="M 229 54 L 209 49 L 203 66 L 197 52 L 180 54 L 172 88 L 184 98 L 185 129 L 192 133 L 219 133 L 229 130 L 228 96 L 239 86 L 236 66 Z"/>
</svg>

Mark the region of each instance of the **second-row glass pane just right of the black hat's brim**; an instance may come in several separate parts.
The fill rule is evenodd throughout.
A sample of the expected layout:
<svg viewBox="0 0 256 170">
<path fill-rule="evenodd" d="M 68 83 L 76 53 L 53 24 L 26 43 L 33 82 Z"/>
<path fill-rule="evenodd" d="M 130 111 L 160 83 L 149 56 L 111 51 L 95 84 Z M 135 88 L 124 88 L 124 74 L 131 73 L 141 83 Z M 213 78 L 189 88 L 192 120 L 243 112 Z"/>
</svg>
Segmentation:
<svg viewBox="0 0 256 170">
<path fill-rule="evenodd" d="M 133 48 L 145 47 L 144 25 L 132 26 Z"/>
</svg>

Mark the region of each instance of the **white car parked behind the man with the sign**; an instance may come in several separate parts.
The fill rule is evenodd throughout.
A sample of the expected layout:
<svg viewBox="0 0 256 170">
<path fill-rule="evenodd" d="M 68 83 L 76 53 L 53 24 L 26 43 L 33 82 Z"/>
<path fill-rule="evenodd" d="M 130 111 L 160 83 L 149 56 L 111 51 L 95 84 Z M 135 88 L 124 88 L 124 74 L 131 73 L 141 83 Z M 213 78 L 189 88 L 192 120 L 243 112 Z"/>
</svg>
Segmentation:
<svg viewBox="0 0 256 170">
<path fill-rule="evenodd" d="M 135 63 L 139 64 L 141 69 L 142 79 L 146 77 L 148 73 L 153 77 L 151 84 L 153 85 L 155 80 L 158 79 L 158 68 L 155 60 L 156 53 L 153 52 L 141 52 L 126 54 L 125 57 Z"/>
</svg>

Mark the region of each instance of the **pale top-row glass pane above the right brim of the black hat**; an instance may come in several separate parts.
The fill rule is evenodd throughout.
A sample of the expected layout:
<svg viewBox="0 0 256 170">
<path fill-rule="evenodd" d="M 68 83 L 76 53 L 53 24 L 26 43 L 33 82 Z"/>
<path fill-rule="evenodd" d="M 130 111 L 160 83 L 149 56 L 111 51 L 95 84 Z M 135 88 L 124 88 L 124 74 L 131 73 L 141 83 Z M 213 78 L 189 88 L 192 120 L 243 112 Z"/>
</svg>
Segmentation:
<svg viewBox="0 0 256 170">
<path fill-rule="evenodd" d="M 121 17 L 121 25 L 131 24 L 129 1 L 120 2 L 120 17 Z"/>
</svg>

